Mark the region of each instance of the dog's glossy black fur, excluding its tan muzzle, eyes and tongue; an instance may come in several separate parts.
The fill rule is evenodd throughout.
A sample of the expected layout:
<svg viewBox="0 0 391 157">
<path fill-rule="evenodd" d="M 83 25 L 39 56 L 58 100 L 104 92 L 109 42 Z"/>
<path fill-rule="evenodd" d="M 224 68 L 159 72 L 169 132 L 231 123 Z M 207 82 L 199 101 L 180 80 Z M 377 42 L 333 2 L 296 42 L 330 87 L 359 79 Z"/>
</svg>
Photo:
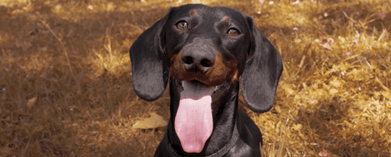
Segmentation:
<svg viewBox="0 0 391 157">
<path fill-rule="evenodd" d="M 191 17 L 192 11 L 195 11 L 197 16 Z M 222 19 L 228 19 L 228 22 Z M 180 33 L 175 30 L 175 25 L 180 20 L 187 21 L 189 30 Z M 227 36 L 230 28 L 237 28 L 240 35 Z M 199 43 L 200 41 L 204 43 Z M 192 44 L 205 45 L 207 48 L 196 46 L 190 52 L 183 50 L 185 46 Z M 218 86 L 222 88 L 222 94 L 212 103 L 213 132 L 200 153 L 184 152 L 174 130 L 180 92 L 175 78 L 178 73 L 169 72 L 170 66 L 173 66 L 170 58 L 181 50 L 183 53 L 205 53 L 202 56 L 194 56 L 209 57 L 212 61 L 216 56 L 205 55 L 218 52 L 224 65 L 229 66 L 231 62 L 237 64 L 233 69 L 238 71 L 238 78 L 229 76 L 227 80 L 223 80 L 226 83 Z M 209 7 L 202 4 L 172 7 L 165 17 L 133 43 L 130 59 L 133 89 L 144 100 L 158 99 L 170 78 L 171 118 L 155 157 L 261 156 L 261 131 L 238 108 L 239 76 L 243 98 L 248 107 L 255 112 L 267 112 L 273 106 L 282 73 L 282 61 L 277 50 L 257 29 L 251 17 L 226 7 Z"/>
</svg>

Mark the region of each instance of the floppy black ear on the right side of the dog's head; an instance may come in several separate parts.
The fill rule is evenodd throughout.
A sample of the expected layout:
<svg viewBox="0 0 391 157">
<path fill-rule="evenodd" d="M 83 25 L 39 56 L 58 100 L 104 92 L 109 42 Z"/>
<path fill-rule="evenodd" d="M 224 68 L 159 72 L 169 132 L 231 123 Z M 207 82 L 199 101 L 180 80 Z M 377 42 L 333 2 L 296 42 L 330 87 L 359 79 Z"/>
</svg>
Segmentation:
<svg viewBox="0 0 391 157">
<path fill-rule="evenodd" d="M 277 50 L 246 16 L 250 27 L 251 48 L 241 77 L 241 91 L 248 107 L 255 112 L 269 111 L 282 73 Z"/>
</svg>

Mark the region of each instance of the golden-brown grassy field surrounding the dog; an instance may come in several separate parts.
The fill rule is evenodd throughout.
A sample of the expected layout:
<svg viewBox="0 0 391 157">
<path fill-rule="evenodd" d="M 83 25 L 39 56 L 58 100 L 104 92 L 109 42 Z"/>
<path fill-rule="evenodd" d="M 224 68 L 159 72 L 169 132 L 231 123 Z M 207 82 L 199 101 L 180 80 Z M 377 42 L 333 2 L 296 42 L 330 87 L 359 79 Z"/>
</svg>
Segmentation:
<svg viewBox="0 0 391 157">
<path fill-rule="evenodd" d="M 170 97 L 135 95 L 129 49 L 185 3 L 253 16 L 280 52 L 273 109 L 247 112 L 264 157 L 391 157 L 389 0 L 0 0 L 0 157 L 151 157 L 165 126 L 134 124 Z"/>
</svg>

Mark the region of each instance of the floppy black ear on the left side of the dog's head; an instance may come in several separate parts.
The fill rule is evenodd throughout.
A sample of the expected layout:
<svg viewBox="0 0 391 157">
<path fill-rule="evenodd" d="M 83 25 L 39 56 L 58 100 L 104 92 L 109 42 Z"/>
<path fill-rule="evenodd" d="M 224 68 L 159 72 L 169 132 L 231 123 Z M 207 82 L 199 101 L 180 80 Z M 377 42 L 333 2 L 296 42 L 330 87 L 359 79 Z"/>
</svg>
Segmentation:
<svg viewBox="0 0 391 157">
<path fill-rule="evenodd" d="M 154 101 L 167 87 L 169 72 L 164 52 L 164 30 L 170 13 L 141 34 L 130 47 L 134 92 L 141 99 Z"/>
</svg>

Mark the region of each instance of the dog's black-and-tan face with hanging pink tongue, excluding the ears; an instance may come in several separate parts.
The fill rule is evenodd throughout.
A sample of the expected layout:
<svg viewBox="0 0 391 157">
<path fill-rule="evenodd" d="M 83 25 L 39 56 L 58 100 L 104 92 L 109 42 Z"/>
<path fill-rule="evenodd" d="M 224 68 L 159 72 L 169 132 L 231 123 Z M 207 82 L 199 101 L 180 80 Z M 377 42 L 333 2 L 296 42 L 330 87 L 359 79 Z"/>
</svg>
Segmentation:
<svg viewBox="0 0 391 157">
<path fill-rule="evenodd" d="M 183 7 L 171 10 L 162 44 L 180 97 L 172 102 L 176 135 L 185 152 L 199 153 L 213 131 L 213 108 L 219 106 L 212 105 L 223 105 L 215 102 L 231 96 L 227 88 L 243 72 L 251 36 L 245 17 L 236 10 Z"/>
</svg>

